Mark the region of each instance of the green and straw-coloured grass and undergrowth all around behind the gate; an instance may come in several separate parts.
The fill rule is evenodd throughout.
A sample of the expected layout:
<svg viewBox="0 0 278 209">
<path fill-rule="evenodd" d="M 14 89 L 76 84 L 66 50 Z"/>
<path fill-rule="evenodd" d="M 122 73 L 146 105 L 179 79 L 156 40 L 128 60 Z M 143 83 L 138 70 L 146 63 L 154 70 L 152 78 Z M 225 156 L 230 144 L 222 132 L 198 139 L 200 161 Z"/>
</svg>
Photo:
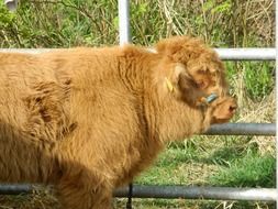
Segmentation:
<svg viewBox="0 0 278 209">
<path fill-rule="evenodd" d="M 0 47 L 71 47 L 118 44 L 116 1 L 22 0 L 10 13 L 0 2 Z M 273 0 L 134 0 L 132 41 L 190 34 L 213 47 L 274 47 Z M 275 63 L 225 62 L 238 111 L 233 122 L 275 122 Z M 276 186 L 275 138 L 194 136 L 167 145 L 156 164 L 135 179 L 144 185 Z M 126 199 L 115 199 L 124 208 Z M 274 202 L 134 199 L 135 209 L 268 209 Z M 48 189 L 0 196 L 0 209 L 59 208 Z"/>
</svg>

